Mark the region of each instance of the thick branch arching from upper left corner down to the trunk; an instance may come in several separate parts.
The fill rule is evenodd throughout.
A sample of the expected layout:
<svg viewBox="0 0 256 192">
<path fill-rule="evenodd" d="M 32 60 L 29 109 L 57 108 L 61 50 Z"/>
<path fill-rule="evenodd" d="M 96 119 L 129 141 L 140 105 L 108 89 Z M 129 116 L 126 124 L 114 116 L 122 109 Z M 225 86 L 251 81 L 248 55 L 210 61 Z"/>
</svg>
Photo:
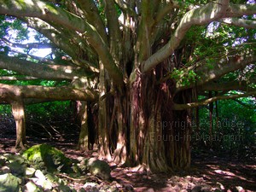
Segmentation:
<svg viewBox="0 0 256 192">
<path fill-rule="evenodd" d="M 104 67 L 113 78 L 115 84 L 123 84 L 123 74 L 113 61 L 106 44 L 94 26 L 77 15 L 67 12 L 64 9 L 43 1 L 27 0 L 23 1 L 4 1 L 0 0 L 0 14 L 13 15 L 17 17 L 37 17 L 49 23 L 55 22 L 60 26 L 65 26 L 70 30 L 84 34 L 91 46 L 96 50 Z"/>
</svg>

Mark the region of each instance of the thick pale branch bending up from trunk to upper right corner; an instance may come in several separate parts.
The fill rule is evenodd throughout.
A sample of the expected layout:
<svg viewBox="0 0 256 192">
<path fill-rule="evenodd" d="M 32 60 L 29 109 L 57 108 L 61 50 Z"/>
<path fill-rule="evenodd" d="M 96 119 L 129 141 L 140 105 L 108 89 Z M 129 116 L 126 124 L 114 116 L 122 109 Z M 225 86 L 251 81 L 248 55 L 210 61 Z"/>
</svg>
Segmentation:
<svg viewBox="0 0 256 192">
<path fill-rule="evenodd" d="M 172 55 L 191 26 L 205 25 L 213 20 L 226 17 L 256 14 L 255 4 L 234 5 L 229 2 L 228 0 L 220 0 L 218 3 L 207 3 L 200 8 L 190 10 L 183 16 L 183 19 L 177 26 L 169 42 L 144 61 L 142 68 L 143 73 L 153 69 L 168 56 Z"/>
</svg>

